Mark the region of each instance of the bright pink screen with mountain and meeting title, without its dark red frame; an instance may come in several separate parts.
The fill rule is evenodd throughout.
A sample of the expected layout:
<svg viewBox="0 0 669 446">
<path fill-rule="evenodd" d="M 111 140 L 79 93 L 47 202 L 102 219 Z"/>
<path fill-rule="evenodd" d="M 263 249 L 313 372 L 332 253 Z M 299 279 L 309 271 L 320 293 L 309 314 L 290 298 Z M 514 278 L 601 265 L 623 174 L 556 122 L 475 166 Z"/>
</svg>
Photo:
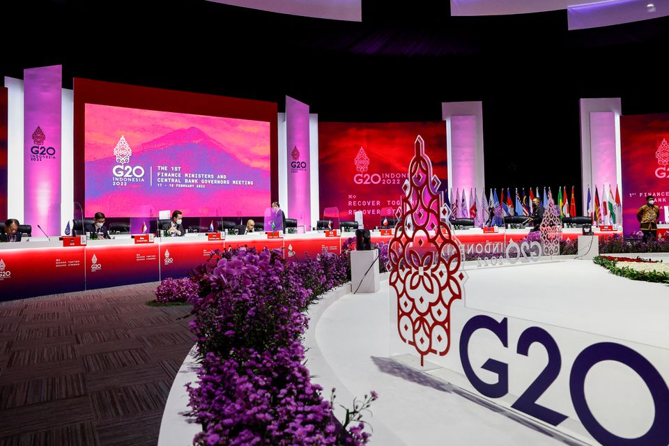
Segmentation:
<svg viewBox="0 0 669 446">
<path fill-rule="evenodd" d="M 270 123 L 86 104 L 86 213 L 254 215 L 270 201 Z M 243 199 L 240 199 L 243 197 Z"/>
</svg>

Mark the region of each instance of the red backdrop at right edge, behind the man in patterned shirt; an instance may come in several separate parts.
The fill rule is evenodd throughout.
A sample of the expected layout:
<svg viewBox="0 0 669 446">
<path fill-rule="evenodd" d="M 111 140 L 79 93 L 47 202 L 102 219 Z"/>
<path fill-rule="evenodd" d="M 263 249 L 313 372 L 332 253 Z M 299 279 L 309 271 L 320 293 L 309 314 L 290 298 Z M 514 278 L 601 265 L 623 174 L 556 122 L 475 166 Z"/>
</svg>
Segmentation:
<svg viewBox="0 0 669 446">
<path fill-rule="evenodd" d="M 660 220 L 669 220 L 669 114 L 620 118 L 622 224 L 625 235 L 636 232 L 636 212 L 654 195 Z"/>
</svg>

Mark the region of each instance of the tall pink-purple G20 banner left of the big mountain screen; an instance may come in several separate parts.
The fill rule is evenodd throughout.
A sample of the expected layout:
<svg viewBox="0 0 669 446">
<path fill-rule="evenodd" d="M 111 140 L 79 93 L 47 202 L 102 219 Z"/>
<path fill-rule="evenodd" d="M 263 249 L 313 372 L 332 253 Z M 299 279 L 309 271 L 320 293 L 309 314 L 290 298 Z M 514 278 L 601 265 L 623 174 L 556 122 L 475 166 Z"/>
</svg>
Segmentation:
<svg viewBox="0 0 669 446">
<path fill-rule="evenodd" d="M 24 70 L 24 221 L 61 233 L 62 66 Z"/>
</svg>

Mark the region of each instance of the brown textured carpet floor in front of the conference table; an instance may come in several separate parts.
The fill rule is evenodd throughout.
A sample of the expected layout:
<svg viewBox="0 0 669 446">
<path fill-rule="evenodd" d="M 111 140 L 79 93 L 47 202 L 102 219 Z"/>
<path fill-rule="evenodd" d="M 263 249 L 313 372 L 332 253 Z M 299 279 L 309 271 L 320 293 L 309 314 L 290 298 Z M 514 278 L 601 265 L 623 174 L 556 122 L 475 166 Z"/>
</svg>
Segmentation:
<svg viewBox="0 0 669 446">
<path fill-rule="evenodd" d="M 0 445 L 155 445 L 194 341 L 157 283 L 0 302 Z"/>
</svg>

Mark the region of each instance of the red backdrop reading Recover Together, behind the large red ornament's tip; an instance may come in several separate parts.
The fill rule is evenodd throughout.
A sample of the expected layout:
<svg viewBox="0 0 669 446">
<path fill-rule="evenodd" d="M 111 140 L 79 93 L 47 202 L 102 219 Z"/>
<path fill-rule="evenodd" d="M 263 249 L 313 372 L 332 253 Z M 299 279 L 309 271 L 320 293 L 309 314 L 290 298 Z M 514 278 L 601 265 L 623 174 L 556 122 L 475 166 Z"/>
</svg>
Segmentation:
<svg viewBox="0 0 669 446">
<path fill-rule="evenodd" d="M 318 123 L 320 215 L 337 206 L 340 220 L 362 210 L 364 226 L 380 223 L 383 208 L 399 207 L 406 167 L 420 134 L 434 174 L 447 187 L 446 123 Z"/>
</svg>

